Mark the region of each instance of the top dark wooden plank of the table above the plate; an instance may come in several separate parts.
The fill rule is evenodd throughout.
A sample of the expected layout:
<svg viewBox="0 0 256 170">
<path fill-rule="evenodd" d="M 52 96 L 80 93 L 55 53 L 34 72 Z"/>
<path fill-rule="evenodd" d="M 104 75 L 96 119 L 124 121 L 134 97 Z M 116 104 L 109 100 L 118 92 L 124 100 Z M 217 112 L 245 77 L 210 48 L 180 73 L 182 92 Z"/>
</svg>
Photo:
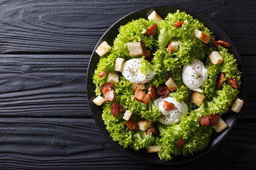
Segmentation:
<svg viewBox="0 0 256 170">
<path fill-rule="evenodd" d="M 255 55 L 256 1 L 16 1 L 0 2 L 0 52 L 90 54 L 123 16 L 150 6 L 181 6 L 213 19 L 242 55 Z M 104 15 L 102 15 L 104 13 Z"/>
</svg>

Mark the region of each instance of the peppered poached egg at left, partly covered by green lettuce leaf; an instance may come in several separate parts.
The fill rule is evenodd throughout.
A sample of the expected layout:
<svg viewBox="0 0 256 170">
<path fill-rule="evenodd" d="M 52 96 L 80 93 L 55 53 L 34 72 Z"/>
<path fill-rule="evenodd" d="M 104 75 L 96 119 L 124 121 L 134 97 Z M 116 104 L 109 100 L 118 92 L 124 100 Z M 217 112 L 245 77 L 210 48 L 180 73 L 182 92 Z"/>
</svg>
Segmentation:
<svg viewBox="0 0 256 170">
<path fill-rule="evenodd" d="M 135 84 L 145 84 L 151 81 L 154 77 L 154 72 L 151 69 L 148 69 L 148 74 L 144 75 L 139 70 L 140 66 L 140 58 L 127 60 L 122 66 L 122 76 Z"/>
</svg>

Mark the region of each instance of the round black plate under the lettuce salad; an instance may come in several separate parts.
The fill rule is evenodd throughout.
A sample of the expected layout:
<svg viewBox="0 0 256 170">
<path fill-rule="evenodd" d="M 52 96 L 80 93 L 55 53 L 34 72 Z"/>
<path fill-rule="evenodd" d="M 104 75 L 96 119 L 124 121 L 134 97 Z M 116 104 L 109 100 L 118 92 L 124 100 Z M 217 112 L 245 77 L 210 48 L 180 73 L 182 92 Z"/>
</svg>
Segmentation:
<svg viewBox="0 0 256 170">
<path fill-rule="evenodd" d="M 213 21 L 210 20 L 210 18 L 207 18 L 206 16 L 201 15 L 200 13 L 196 11 L 190 11 L 185 8 L 179 8 L 175 6 L 158 6 L 158 7 L 152 7 L 152 8 L 144 8 L 139 11 L 135 11 L 133 13 L 129 13 L 127 16 L 124 16 L 124 18 L 121 18 L 119 21 L 114 23 L 113 26 L 110 27 L 109 30 L 102 36 L 100 41 L 97 43 L 95 49 L 97 46 L 103 42 L 107 41 L 109 45 L 113 45 L 114 38 L 116 38 L 117 34 L 119 33 L 118 28 L 119 26 L 123 26 L 127 24 L 129 21 L 139 19 L 139 18 L 147 18 L 149 14 L 155 10 L 156 13 L 159 13 L 159 16 L 162 18 L 165 18 L 168 13 L 175 13 L 177 10 L 184 11 L 193 18 L 198 19 L 198 21 L 201 21 L 204 23 L 204 26 L 208 27 L 211 31 L 213 31 L 213 35 L 215 35 L 216 40 L 224 40 L 226 42 L 230 43 L 230 47 L 228 48 L 228 51 L 235 56 L 238 62 L 238 69 L 243 73 L 242 74 L 242 84 L 240 86 L 240 94 L 239 98 L 244 100 L 245 98 L 245 71 L 244 67 L 242 66 L 242 62 L 240 59 L 240 55 L 238 53 L 238 50 L 236 49 L 235 45 L 233 44 L 232 40 L 228 37 L 228 35 L 223 31 L 222 28 L 217 26 Z M 117 142 L 114 142 L 112 140 L 112 137 L 110 137 L 109 132 L 106 129 L 106 126 L 102 120 L 102 108 L 100 106 L 96 106 L 92 100 L 95 98 L 95 85 L 92 83 L 92 77 L 95 72 L 95 69 L 97 68 L 97 63 L 99 62 L 99 56 L 93 50 L 92 57 L 90 59 L 90 64 L 87 69 L 87 96 L 90 102 L 90 107 L 92 110 L 92 115 L 95 118 L 95 121 L 97 122 L 97 125 L 99 125 L 100 129 L 104 134 L 107 136 L 107 138 L 112 141 L 112 143 L 117 146 L 119 149 L 121 149 L 123 152 L 131 155 L 132 157 L 135 157 L 137 159 L 140 159 L 144 162 L 150 162 L 150 163 L 156 163 L 156 164 L 181 164 L 183 162 L 188 162 L 193 159 L 196 159 L 197 157 L 202 156 L 203 154 L 206 154 L 210 151 L 210 149 L 213 149 L 213 147 L 217 146 L 226 135 L 228 135 L 228 132 L 233 128 L 235 125 L 236 120 L 238 120 L 240 113 L 234 113 L 233 111 L 230 111 L 229 113 L 223 115 L 223 120 L 225 120 L 225 123 L 228 124 L 228 128 L 220 133 L 213 132 L 213 135 L 210 137 L 210 142 L 208 143 L 208 147 L 204 148 L 200 152 L 194 152 L 192 154 L 188 154 L 187 156 L 177 156 L 174 157 L 174 159 L 169 161 L 164 161 L 159 159 L 158 154 L 148 154 L 146 152 L 146 149 L 141 149 L 139 151 L 134 151 L 134 149 L 124 149 L 121 145 L 118 145 Z M 221 154 L 220 154 L 221 155 Z"/>
</svg>

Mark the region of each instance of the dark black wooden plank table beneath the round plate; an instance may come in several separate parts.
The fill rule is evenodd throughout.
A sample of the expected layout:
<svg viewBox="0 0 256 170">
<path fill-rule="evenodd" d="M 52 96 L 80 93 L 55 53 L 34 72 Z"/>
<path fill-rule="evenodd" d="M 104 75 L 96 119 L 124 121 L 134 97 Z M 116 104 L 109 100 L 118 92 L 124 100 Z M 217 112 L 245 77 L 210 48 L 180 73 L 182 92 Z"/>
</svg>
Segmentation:
<svg viewBox="0 0 256 170">
<path fill-rule="evenodd" d="M 182 6 L 213 19 L 235 42 L 245 105 L 211 152 L 175 166 L 119 151 L 97 127 L 86 72 L 114 22 L 149 6 Z M 256 1 L 0 1 L 0 169 L 256 169 Z"/>
</svg>

